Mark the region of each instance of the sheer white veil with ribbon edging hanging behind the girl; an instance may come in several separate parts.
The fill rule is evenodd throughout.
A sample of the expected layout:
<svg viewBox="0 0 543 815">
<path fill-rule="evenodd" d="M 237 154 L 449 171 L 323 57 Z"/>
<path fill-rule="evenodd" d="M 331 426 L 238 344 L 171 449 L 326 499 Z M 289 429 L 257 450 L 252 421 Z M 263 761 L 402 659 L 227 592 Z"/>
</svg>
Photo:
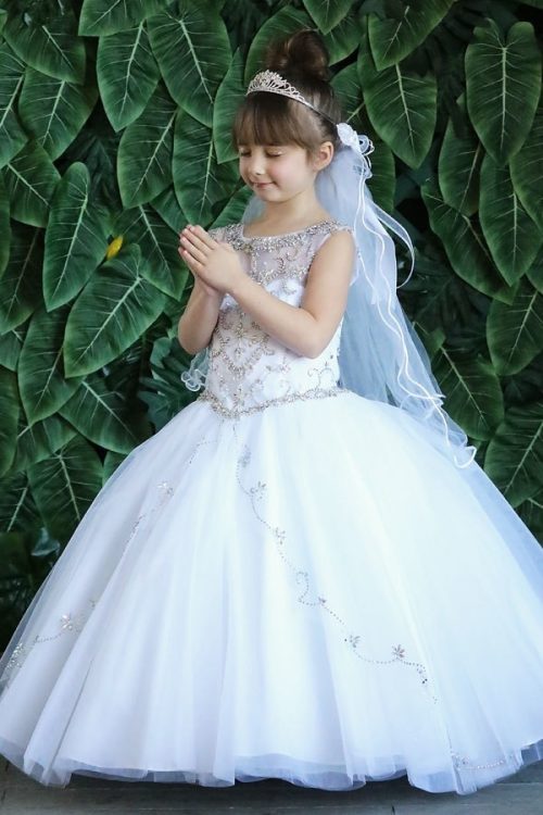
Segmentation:
<svg viewBox="0 0 543 815">
<path fill-rule="evenodd" d="M 356 264 L 341 330 L 339 384 L 368 399 L 407 411 L 442 444 L 458 467 L 468 466 L 477 449 L 443 410 L 438 383 L 428 354 L 396 294 L 397 264 L 394 242 L 384 226 L 409 248 L 408 233 L 378 206 L 367 189 L 371 175 L 368 153 L 372 145 L 349 124 L 337 125 L 342 141 L 327 167 L 318 173 L 315 189 L 324 209 L 351 227 L 356 241 Z M 252 196 L 242 222 L 250 223 L 262 210 Z M 405 285 L 409 277 L 402 284 Z M 193 359 L 181 379 L 190 390 L 205 384 L 207 349 Z"/>
</svg>

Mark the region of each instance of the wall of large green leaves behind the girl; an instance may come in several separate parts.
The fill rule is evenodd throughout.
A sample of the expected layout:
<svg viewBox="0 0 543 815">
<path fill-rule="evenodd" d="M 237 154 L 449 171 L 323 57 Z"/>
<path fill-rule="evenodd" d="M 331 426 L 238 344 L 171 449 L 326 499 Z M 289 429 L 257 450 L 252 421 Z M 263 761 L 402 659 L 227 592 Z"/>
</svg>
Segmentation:
<svg viewBox="0 0 543 815">
<path fill-rule="evenodd" d="M 305 26 L 416 243 L 400 297 L 444 406 L 543 540 L 541 9 L 0 0 L 2 642 L 118 463 L 195 396 L 178 233 L 240 220 L 233 111 L 268 39 Z"/>
</svg>

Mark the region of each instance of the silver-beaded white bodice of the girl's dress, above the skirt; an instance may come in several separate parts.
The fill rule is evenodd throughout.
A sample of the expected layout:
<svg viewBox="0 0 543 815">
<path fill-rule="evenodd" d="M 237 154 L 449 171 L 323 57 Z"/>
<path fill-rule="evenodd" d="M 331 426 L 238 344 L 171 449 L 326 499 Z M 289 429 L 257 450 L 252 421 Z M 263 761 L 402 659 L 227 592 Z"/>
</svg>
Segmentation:
<svg viewBox="0 0 543 815">
<path fill-rule="evenodd" d="M 267 291 L 300 305 L 313 258 L 330 234 L 348 228 L 330 220 L 270 237 L 245 237 L 243 224 L 210 234 L 239 251 L 247 274 Z M 338 386 L 342 322 L 318 356 L 302 356 L 266 334 L 225 294 L 210 343 L 205 389 L 199 398 L 223 415 L 238 416 L 270 404 L 337 394 L 343 390 Z"/>
</svg>

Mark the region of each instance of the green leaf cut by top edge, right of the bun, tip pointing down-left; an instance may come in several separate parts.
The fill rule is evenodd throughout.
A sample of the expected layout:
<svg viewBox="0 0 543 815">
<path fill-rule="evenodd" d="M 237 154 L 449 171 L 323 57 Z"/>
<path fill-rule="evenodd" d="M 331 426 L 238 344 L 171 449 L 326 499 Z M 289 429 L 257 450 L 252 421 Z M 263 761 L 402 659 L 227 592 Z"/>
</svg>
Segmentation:
<svg viewBox="0 0 543 815">
<path fill-rule="evenodd" d="M 378 71 L 395 65 L 417 48 L 443 20 L 454 0 L 411 0 L 401 14 L 368 17 L 371 53 Z"/>
</svg>

